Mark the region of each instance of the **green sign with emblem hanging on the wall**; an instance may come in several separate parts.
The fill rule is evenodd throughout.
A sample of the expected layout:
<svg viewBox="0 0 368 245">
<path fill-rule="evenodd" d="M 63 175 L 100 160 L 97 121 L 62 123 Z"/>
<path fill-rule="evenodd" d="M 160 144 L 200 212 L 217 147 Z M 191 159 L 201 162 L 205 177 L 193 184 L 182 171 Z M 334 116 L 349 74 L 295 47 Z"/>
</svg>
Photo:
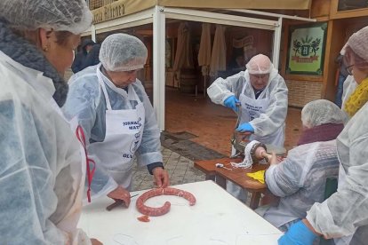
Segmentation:
<svg viewBox="0 0 368 245">
<path fill-rule="evenodd" d="M 327 23 L 291 26 L 286 74 L 324 75 Z"/>
</svg>

